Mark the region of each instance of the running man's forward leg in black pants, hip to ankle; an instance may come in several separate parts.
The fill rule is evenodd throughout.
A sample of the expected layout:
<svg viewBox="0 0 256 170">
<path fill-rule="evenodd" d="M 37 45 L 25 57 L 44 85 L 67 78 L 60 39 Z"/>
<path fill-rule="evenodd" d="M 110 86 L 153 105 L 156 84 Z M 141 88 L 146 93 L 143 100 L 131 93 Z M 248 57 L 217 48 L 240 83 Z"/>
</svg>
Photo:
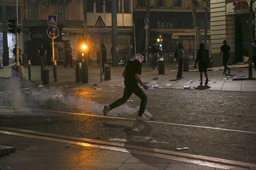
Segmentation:
<svg viewBox="0 0 256 170">
<path fill-rule="evenodd" d="M 132 88 L 132 92 L 141 99 L 138 116 L 142 116 L 146 109 L 147 96 L 146 96 L 145 92 L 139 86 Z"/>
</svg>

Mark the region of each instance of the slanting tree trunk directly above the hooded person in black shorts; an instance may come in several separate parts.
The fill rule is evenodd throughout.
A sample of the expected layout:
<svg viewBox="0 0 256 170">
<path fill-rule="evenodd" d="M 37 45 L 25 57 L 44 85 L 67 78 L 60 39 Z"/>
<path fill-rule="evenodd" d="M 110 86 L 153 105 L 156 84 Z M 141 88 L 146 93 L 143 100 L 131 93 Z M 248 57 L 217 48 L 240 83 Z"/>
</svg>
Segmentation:
<svg viewBox="0 0 256 170">
<path fill-rule="evenodd" d="M 197 17 L 197 11 L 196 11 L 196 0 L 190 0 L 191 2 L 191 9 L 192 9 L 192 16 L 194 20 L 194 26 L 196 30 L 196 47 L 199 47 L 199 44 L 202 42 L 201 38 L 201 32 L 200 32 L 200 27 L 199 27 L 199 22 L 198 22 L 198 17 Z"/>
</svg>

